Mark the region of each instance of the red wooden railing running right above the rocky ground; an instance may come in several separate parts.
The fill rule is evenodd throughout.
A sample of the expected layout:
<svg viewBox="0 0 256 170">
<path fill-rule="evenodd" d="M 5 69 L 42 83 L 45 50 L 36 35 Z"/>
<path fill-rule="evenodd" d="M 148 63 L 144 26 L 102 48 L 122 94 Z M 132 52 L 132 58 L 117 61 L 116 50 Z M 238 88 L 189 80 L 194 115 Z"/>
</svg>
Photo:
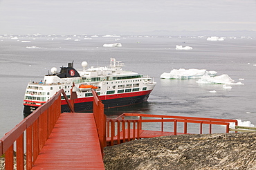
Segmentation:
<svg viewBox="0 0 256 170">
<path fill-rule="evenodd" d="M 131 118 L 125 119 L 125 117 Z M 143 120 L 143 117 L 149 117 L 151 119 Z M 204 117 L 184 117 L 172 115 L 147 115 L 140 113 L 123 113 L 116 119 L 107 119 L 107 141 L 109 142 L 108 145 L 112 146 L 113 144 L 120 144 L 121 142 L 128 142 L 130 140 L 140 139 L 141 130 L 147 130 L 143 129 L 143 123 L 145 122 L 161 123 L 161 130 L 151 131 L 151 133 L 155 133 L 156 135 L 157 133 L 164 134 L 162 133 L 164 132 L 164 122 L 173 123 L 173 135 L 177 135 L 178 122 L 183 122 L 183 134 L 188 134 L 188 123 L 199 124 L 200 134 L 203 133 L 203 124 L 209 124 L 209 133 L 212 133 L 212 124 L 226 126 L 226 133 L 229 132 L 230 122 L 234 122 L 235 125 L 237 126 L 237 120 Z"/>
</svg>

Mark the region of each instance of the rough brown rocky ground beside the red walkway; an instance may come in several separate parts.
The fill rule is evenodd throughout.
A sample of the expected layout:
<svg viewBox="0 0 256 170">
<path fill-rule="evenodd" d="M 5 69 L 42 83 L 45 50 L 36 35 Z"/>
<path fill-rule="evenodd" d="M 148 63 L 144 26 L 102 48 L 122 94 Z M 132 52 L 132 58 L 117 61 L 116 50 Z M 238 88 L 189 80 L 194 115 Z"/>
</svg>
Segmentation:
<svg viewBox="0 0 256 170">
<path fill-rule="evenodd" d="M 104 149 L 106 169 L 256 169 L 256 133 L 172 135 Z"/>
</svg>

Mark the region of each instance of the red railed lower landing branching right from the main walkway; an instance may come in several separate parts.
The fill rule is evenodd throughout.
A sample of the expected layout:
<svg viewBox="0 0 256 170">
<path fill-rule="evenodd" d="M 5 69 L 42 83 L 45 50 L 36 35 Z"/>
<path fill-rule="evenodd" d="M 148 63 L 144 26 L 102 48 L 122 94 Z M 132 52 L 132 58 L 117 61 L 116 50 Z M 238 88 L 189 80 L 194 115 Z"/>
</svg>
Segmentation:
<svg viewBox="0 0 256 170">
<path fill-rule="evenodd" d="M 138 140 L 140 138 L 189 134 L 189 124 L 193 124 L 193 126 L 195 126 L 194 124 L 197 124 L 196 127 L 199 128 L 197 133 L 199 134 L 205 133 L 206 128 L 208 128 L 206 129 L 208 130 L 208 133 L 211 134 L 212 128 L 217 128 L 217 126 L 220 126 L 220 131 L 229 133 L 230 123 L 234 123 L 237 126 L 237 120 L 123 113 L 115 119 L 107 118 L 107 145 L 112 146 L 122 142 Z M 223 127 L 225 127 L 224 130 Z M 196 134 L 196 131 L 194 131 L 193 134 L 194 133 Z"/>
</svg>

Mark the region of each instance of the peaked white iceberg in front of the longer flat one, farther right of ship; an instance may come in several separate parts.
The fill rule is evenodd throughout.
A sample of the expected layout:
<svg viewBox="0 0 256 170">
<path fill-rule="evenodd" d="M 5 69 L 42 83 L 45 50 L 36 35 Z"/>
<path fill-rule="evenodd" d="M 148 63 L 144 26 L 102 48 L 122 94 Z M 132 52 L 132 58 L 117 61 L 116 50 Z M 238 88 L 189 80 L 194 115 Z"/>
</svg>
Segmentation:
<svg viewBox="0 0 256 170">
<path fill-rule="evenodd" d="M 235 83 L 233 79 L 231 79 L 228 75 L 223 74 L 215 77 L 210 77 L 210 75 L 203 75 L 201 79 L 196 81 L 197 83 L 202 83 L 202 84 L 241 84 L 241 82 Z M 223 87 L 225 88 L 225 86 Z"/>
</svg>

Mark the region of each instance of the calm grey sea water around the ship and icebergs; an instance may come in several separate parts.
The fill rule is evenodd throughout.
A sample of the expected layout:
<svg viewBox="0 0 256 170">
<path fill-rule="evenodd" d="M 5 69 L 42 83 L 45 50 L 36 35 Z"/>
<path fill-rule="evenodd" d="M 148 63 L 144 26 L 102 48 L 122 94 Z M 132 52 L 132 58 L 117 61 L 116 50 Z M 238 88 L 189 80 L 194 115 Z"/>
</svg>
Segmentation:
<svg viewBox="0 0 256 170">
<path fill-rule="evenodd" d="M 107 110 L 108 117 L 123 112 L 159 115 L 216 117 L 250 121 L 256 124 L 256 38 L 226 37 L 0 37 L 0 138 L 23 117 L 23 100 L 29 81 L 44 78 L 53 66 L 75 68 L 107 66 L 111 57 L 133 70 L 154 77 L 157 82 L 147 103 Z M 122 47 L 103 44 L 120 42 Z M 192 50 L 176 50 L 176 45 Z M 199 84 L 198 79 L 160 79 L 172 69 L 196 68 L 226 74 L 244 85 Z M 216 91 L 216 93 L 210 93 Z"/>
</svg>

